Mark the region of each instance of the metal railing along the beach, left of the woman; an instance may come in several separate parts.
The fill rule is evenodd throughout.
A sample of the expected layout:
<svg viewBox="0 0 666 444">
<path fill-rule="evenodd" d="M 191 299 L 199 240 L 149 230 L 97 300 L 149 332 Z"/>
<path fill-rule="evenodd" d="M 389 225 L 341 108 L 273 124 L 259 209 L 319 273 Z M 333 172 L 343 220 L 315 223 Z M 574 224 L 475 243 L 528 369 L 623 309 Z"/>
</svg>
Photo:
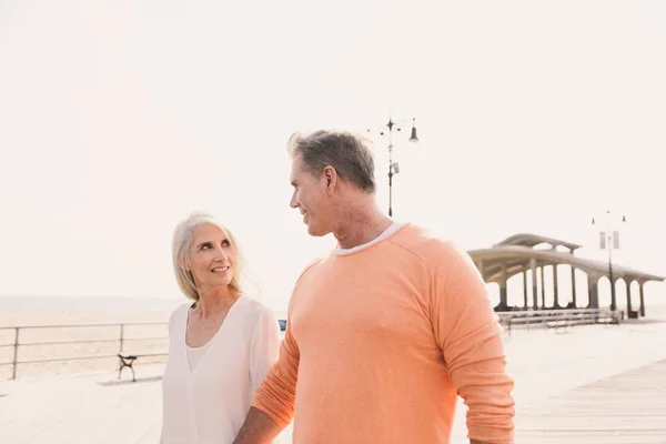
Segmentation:
<svg viewBox="0 0 666 444">
<path fill-rule="evenodd" d="M 118 357 L 118 354 L 123 353 L 123 347 L 129 341 L 160 341 L 167 340 L 169 336 L 130 336 L 127 335 L 128 326 L 148 326 L 148 325 L 167 325 L 167 322 L 111 322 L 111 323 L 91 323 L 91 324 L 52 324 L 52 325 L 14 325 L 14 326 L 0 326 L 0 332 L 12 331 L 13 340 L 10 343 L 0 343 L 0 350 L 6 347 L 13 347 L 11 362 L 0 362 L 0 366 L 11 365 L 11 380 L 17 379 L 18 367 L 21 364 L 38 364 L 46 362 L 67 362 L 67 361 L 79 361 L 79 360 L 93 360 L 93 359 L 109 359 Z M 118 336 L 113 339 L 85 339 L 85 340 L 63 340 L 63 341 L 44 341 L 44 342 L 21 342 L 21 332 L 34 331 L 34 330 L 47 330 L 47 329 L 85 329 L 85 327 L 119 327 Z M 37 360 L 19 360 L 19 349 L 36 345 L 65 345 L 65 344 L 99 344 L 99 343 L 119 343 L 118 353 L 115 354 L 89 354 L 89 355 L 73 355 L 73 356 L 60 356 L 49 359 L 37 359 Z M 167 351 L 164 350 L 164 355 Z"/>
</svg>

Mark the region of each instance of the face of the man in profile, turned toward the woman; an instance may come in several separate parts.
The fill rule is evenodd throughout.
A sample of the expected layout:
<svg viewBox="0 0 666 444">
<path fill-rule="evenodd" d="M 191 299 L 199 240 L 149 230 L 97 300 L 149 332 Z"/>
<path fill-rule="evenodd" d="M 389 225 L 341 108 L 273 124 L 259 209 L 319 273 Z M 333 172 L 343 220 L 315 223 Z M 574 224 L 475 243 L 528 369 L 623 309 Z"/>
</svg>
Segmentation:
<svg viewBox="0 0 666 444">
<path fill-rule="evenodd" d="M 326 181 L 323 175 L 315 179 L 310 171 L 304 170 L 300 154 L 292 160 L 291 184 L 294 192 L 290 206 L 301 211 L 307 233 L 313 236 L 329 234 L 331 203 Z"/>
</svg>

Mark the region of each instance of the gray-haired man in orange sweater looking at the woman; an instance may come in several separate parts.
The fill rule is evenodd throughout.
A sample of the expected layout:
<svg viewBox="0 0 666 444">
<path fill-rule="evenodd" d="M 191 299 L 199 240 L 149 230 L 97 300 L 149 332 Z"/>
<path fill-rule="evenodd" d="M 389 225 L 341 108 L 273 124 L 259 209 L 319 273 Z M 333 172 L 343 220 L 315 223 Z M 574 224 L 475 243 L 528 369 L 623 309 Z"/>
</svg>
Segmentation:
<svg viewBox="0 0 666 444">
<path fill-rule="evenodd" d="M 468 255 L 380 211 L 360 137 L 289 147 L 291 206 L 337 245 L 296 281 L 280 357 L 234 443 L 270 442 L 292 418 L 296 444 L 448 443 L 457 395 L 471 443 L 512 443 L 513 380 Z"/>
</svg>

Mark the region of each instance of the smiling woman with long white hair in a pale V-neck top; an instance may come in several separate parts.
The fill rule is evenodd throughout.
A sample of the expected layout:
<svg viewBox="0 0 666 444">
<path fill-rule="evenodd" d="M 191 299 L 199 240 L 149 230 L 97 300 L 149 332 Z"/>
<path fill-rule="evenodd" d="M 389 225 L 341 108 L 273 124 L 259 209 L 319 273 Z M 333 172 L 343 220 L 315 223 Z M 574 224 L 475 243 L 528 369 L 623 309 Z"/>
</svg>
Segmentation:
<svg viewBox="0 0 666 444">
<path fill-rule="evenodd" d="M 231 231 L 193 213 L 173 234 L 173 269 L 192 300 L 169 320 L 162 444 L 231 443 L 280 347 L 272 312 L 244 295 Z"/>
</svg>

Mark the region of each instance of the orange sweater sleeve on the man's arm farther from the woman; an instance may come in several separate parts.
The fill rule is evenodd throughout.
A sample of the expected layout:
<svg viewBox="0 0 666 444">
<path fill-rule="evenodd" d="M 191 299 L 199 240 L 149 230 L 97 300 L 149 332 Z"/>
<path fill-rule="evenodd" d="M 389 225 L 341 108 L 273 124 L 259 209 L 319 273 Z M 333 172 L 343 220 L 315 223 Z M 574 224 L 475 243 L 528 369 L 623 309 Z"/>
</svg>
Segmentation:
<svg viewBox="0 0 666 444">
<path fill-rule="evenodd" d="M 457 394 L 468 407 L 471 440 L 513 443 L 514 382 L 497 317 L 485 283 L 470 255 L 452 243 L 438 243 L 427 266 L 431 319 Z"/>
</svg>

